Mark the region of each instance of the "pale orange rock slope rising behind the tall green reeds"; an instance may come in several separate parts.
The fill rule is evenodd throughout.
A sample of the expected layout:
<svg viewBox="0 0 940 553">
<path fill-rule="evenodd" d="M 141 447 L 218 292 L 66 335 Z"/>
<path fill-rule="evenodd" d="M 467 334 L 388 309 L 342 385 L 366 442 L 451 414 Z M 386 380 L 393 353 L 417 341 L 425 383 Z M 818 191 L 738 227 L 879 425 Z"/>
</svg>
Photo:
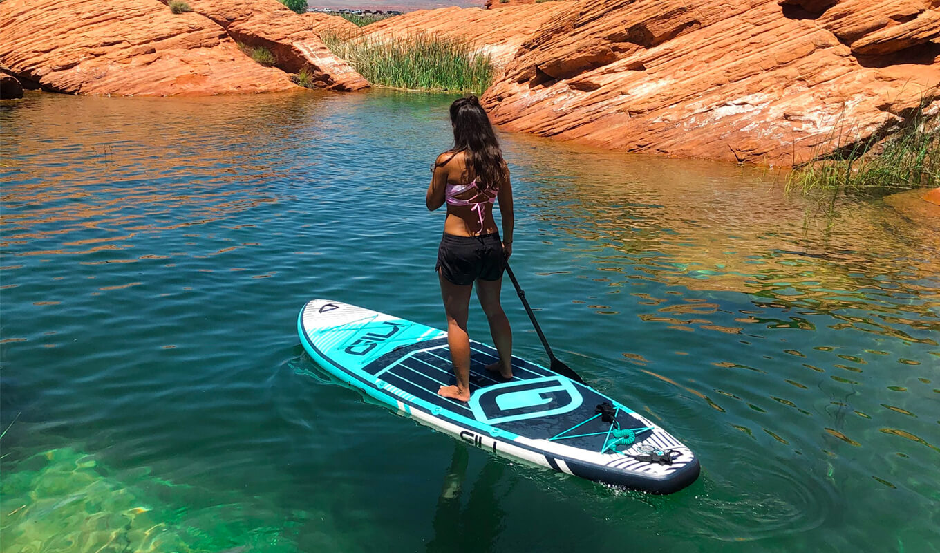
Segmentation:
<svg viewBox="0 0 940 553">
<path fill-rule="evenodd" d="M 561 13 L 568 2 L 546 2 L 512 9 L 437 8 L 412 11 L 363 27 L 364 36 L 407 36 L 431 33 L 477 45 L 501 67 L 543 25 Z"/>
</svg>

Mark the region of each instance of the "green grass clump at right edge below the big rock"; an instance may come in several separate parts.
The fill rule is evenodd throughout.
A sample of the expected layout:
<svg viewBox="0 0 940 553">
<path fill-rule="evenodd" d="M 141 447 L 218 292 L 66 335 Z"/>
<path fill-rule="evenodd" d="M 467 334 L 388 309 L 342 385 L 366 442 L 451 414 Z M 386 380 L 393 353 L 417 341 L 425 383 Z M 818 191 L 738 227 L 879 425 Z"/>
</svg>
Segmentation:
<svg viewBox="0 0 940 553">
<path fill-rule="evenodd" d="M 835 146 L 834 153 L 795 167 L 788 191 L 835 196 L 940 186 L 940 116 L 918 109 L 899 132 L 886 138 L 860 139 L 839 130 L 826 146 Z"/>
</svg>

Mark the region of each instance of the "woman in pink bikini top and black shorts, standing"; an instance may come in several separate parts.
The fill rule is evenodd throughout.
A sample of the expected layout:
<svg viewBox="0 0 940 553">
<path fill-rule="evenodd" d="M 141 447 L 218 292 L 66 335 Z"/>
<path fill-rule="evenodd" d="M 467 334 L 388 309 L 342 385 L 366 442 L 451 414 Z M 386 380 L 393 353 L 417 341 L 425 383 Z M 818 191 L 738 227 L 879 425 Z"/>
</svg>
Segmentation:
<svg viewBox="0 0 940 553">
<path fill-rule="evenodd" d="M 454 148 L 437 156 L 428 186 L 431 211 L 447 204 L 444 237 L 437 250 L 438 279 L 447 314 L 447 343 L 457 375 L 455 386 L 442 386 L 438 394 L 470 400 L 470 337 L 467 308 L 470 292 L 477 284 L 479 304 L 490 322 L 499 361 L 487 370 L 512 378 L 512 331 L 499 304 L 503 270 L 512 254 L 512 187 L 509 167 L 499 150 L 493 126 L 476 97 L 450 104 Z M 500 241 L 493 220 L 493 201 L 499 201 L 503 223 Z"/>
</svg>

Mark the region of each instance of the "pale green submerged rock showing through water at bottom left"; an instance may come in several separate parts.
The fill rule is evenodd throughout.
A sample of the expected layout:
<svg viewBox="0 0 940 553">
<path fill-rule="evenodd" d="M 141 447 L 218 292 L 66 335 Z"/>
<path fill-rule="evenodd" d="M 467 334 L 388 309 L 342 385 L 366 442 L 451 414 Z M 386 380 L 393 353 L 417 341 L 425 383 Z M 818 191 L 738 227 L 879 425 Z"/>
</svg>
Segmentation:
<svg viewBox="0 0 940 553">
<path fill-rule="evenodd" d="M 250 498 L 225 489 L 213 497 L 150 476 L 147 467 L 118 472 L 80 450 L 8 463 L 0 496 L 4 551 L 298 551 L 270 507 L 256 515 Z"/>
</svg>

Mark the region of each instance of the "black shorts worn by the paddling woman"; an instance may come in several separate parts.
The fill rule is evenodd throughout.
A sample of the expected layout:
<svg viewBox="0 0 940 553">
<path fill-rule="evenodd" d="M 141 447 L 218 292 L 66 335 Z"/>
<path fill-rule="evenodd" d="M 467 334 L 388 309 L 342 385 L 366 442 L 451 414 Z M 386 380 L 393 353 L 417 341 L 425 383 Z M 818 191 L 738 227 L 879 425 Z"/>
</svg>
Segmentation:
<svg viewBox="0 0 940 553">
<path fill-rule="evenodd" d="M 480 236 L 445 234 L 434 267 L 448 282 L 460 286 L 473 284 L 478 278 L 499 280 L 505 268 L 503 243 L 495 232 Z"/>
</svg>

